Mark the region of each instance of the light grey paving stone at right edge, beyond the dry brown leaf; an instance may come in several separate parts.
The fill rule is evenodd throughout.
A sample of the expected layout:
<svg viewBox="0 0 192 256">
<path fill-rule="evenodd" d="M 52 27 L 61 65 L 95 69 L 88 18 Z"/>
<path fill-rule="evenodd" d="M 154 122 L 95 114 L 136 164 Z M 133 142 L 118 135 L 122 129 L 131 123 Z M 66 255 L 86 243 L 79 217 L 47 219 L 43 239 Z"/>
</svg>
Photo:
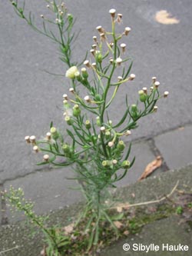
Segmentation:
<svg viewBox="0 0 192 256">
<path fill-rule="evenodd" d="M 181 168 L 192 163 L 192 125 L 169 131 L 154 138 L 170 169 Z"/>
</svg>

